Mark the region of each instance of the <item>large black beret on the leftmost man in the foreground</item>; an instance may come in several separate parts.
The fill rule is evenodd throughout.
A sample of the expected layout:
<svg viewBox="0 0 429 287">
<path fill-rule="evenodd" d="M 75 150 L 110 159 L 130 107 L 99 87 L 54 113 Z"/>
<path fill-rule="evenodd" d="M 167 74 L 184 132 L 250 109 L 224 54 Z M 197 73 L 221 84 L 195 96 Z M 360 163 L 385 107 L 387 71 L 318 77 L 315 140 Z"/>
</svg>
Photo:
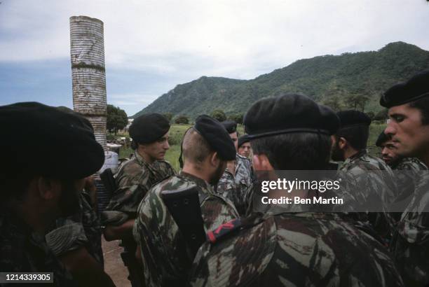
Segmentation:
<svg viewBox="0 0 429 287">
<path fill-rule="evenodd" d="M 6 174 L 82 179 L 97 172 L 104 151 L 90 122 L 73 111 L 25 102 L 0 106 L 0 151 Z"/>
</svg>

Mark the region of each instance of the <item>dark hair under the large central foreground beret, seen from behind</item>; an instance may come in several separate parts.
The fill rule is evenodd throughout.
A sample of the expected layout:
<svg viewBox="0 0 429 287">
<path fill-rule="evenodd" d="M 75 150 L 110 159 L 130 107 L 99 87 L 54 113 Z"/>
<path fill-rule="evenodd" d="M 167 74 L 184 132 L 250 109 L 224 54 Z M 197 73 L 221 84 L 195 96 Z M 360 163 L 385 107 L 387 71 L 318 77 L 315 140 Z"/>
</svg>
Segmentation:
<svg viewBox="0 0 429 287">
<path fill-rule="evenodd" d="M 329 162 L 331 138 L 308 132 L 261 137 L 250 142 L 253 153 L 267 156 L 274 169 L 325 169 Z"/>
</svg>

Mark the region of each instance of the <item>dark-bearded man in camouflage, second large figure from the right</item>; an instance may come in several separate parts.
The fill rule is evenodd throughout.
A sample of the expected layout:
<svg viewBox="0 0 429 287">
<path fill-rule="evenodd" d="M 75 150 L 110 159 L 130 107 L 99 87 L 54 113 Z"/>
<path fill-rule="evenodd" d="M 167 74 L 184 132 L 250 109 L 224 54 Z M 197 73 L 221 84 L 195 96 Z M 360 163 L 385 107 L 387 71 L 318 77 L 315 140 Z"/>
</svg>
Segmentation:
<svg viewBox="0 0 429 287">
<path fill-rule="evenodd" d="M 360 111 L 340 111 L 340 128 L 332 137 L 332 160 L 343 161 L 339 176 L 343 186 L 353 194 L 353 202 L 365 209 L 370 203 L 379 204 L 380 212 L 353 214 L 363 223 L 369 221 L 374 230 L 386 241 L 390 239 L 394 219 L 388 214 L 388 204 L 397 197 L 395 177 L 383 160 L 367 153 L 371 119 Z M 347 203 L 351 205 L 351 202 Z M 355 205 L 353 204 L 353 205 Z M 362 211 L 362 210 L 360 210 Z"/>
</svg>

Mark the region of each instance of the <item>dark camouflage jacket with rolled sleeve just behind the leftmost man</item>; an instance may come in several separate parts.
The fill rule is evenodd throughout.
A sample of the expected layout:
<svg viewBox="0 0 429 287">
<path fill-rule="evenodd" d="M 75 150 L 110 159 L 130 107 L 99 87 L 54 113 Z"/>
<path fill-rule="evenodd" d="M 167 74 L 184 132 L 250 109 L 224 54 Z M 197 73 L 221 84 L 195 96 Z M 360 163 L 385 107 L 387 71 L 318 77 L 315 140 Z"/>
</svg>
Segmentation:
<svg viewBox="0 0 429 287">
<path fill-rule="evenodd" d="M 81 193 L 80 209 L 73 216 L 58 218 L 46 243 L 57 256 L 84 246 L 103 265 L 100 220 L 89 204 L 86 192 Z"/>
</svg>

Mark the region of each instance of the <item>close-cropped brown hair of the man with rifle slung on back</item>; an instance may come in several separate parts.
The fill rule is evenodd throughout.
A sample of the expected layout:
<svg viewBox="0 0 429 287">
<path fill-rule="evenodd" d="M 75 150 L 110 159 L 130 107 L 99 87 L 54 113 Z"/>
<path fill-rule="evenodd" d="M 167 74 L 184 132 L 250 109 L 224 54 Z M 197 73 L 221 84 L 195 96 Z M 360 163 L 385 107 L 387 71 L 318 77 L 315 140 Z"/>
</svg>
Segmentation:
<svg viewBox="0 0 429 287">
<path fill-rule="evenodd" d="M 212 148 L 207 141 L 193 127 L 184 135 L 182 144 L 183 158 L 193 164 L 202 163 L 212 152 Z"/>
</svg>

